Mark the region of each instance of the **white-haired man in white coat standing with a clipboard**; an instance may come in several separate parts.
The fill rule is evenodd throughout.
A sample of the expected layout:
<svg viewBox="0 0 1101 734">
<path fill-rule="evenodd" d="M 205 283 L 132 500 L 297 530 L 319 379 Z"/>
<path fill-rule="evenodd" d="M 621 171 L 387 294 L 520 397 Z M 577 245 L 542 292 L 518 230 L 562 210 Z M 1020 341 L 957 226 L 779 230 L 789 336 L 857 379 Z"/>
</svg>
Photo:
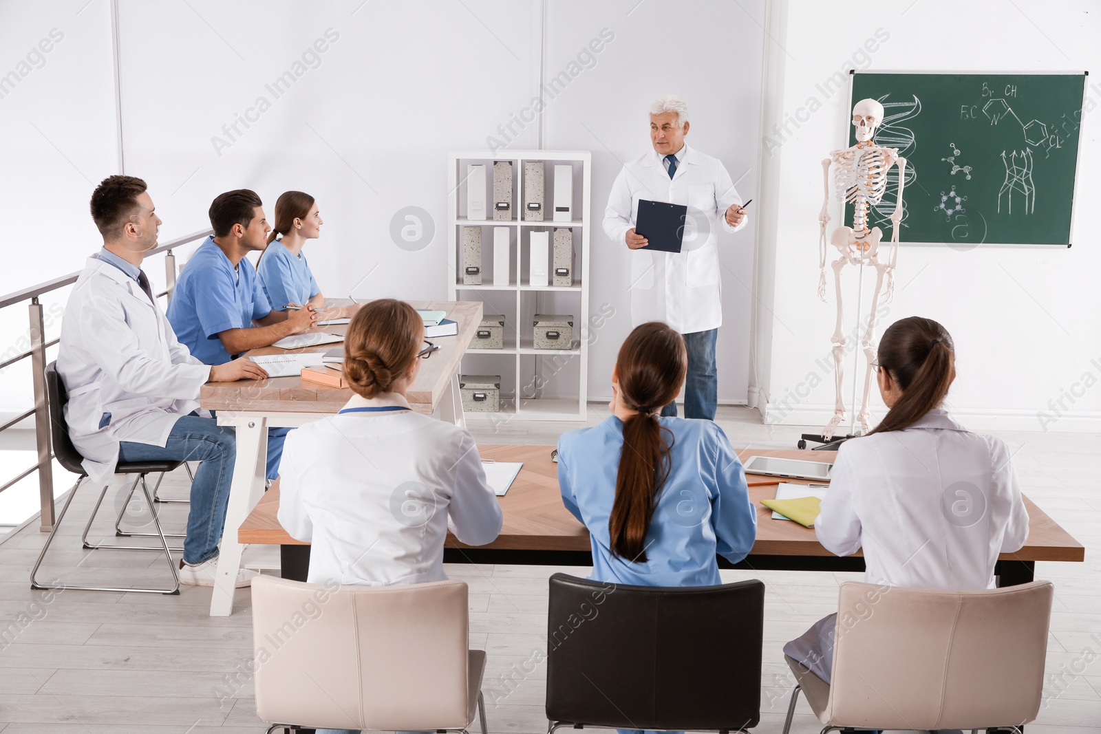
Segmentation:
<svg viewBox="0 0 1101 734">
<path fill-rule="evenodd" d="M 608 196 L 604 232 L 631 258 L 631 321 L 665 321 L 688 347 L 685 417 L 715 418 L 719 377 L 715 343 L 722 325 L 717 224 L 734 232 L 745 226 L 742 199 L 718 158 L 688 147 L 688 107 L 678 97 L 658 97 L 650 107 L 654 146 L 624 164 Z M 688 206 L 682 252 L 647 251 L 634 231 L 639 200 Z M 676 416 L 676 402 L 662 409 Z"/>
</svg>

